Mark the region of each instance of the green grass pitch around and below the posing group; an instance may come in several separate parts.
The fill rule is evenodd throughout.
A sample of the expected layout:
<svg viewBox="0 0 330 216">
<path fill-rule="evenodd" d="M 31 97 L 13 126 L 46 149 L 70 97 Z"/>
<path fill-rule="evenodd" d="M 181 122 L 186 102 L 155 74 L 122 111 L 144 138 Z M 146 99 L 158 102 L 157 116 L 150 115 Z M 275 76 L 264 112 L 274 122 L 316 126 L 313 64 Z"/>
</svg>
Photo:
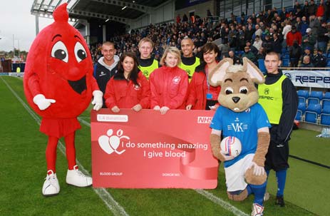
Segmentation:
<svg viewBox="0 0 330 216">
<path fill-rule="evenodd" d="M 220 165 L 215 190 L 112 189 L 95 190 L 66 185 L 66 157 L 58 150 L 57 175 L 61 192 L 43 197 L 46 176 L 46 135 L 39 132 L 20 78 L 0 76 L 0 215 L 249 215 L 253 196 L 243 202 L 227 199 Z M 25 105 L 25 106 L 24 106 Z M 81 119 L 89 122 L 89 110 Z M 76 133 L 77 160 L 91 170 L 91 128 L 81 124 Z M 330 140 L 317 132 L 294 130 L 290 154 L 330 165 Z M 63 143 L 63 141 L 62 141 Z M 62 144 L 59 144 L 62 145 Z M 276 180 L 269 176 L 264 215 L 329 215 L 330 170 L 289 159 L 285 207 L 274 205 Z"/>
</svg>

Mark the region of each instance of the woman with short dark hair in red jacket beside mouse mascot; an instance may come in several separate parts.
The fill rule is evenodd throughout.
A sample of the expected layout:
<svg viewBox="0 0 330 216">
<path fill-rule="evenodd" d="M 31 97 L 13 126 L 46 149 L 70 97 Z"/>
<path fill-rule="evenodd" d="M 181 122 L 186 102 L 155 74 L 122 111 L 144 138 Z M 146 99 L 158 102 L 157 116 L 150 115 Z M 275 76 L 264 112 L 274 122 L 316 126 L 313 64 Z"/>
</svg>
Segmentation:
<svg viewBox="0 0 330 216">
<path fill-rule="evenodd" d="M 221 87 L 208 83 L 208 74 L 217 66 L 217 55 L 220 53 L 215 43 L 205 43 L 202 47 L 203 62 L 197 66 L 189 85 L 187 110 L 216 110 L 219 106 L 217 97 Z"/>
</svg>

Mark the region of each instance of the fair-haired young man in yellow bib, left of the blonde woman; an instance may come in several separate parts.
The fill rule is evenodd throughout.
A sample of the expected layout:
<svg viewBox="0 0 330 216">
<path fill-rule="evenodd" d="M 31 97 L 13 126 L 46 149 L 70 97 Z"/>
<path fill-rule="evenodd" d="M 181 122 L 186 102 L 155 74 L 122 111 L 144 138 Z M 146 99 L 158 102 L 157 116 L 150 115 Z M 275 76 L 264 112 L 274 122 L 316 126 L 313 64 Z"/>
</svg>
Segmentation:
<svg viewBox="0 0 330 216">
<path fill-rule="evenodd" d="M 151 58 L 153 52 L 153 41 L 150 38 L 142 38 L 138 44 L 140 56 L 138 56 L 139 68 L 143 75 L 149 79 L 150 73 L 159 67 L 155 58 Z"/>
</svg>

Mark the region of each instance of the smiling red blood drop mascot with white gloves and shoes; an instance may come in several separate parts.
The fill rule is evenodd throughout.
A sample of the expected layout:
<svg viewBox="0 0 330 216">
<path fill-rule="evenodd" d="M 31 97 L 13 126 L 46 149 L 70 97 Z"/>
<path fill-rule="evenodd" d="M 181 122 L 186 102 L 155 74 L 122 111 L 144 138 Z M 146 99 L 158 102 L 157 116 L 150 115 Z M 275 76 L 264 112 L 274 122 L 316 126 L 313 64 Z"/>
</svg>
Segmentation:
<svg viewBox="0 0 330 216">
<path fill-rule="evenodd" d="M 57 195 L 56 147 L 64 137 L 69 185 L 87 187 L 92 178 L 76 165 L 75 131 L 81 128 L 77 116 L 86 110 L 92 96 L 94 110 L 102 107 L 103 93 L 93 78 L 93 63 L 83 36 L 68 24 L 67 4 L 53 12 L 55 21 L 41 31 L 29 51 L 24 73 L 24 92 L 33 110 L 42 116 L 40 130 L 48 135 L 47 175 L 42 193 Z"/>
</svg>

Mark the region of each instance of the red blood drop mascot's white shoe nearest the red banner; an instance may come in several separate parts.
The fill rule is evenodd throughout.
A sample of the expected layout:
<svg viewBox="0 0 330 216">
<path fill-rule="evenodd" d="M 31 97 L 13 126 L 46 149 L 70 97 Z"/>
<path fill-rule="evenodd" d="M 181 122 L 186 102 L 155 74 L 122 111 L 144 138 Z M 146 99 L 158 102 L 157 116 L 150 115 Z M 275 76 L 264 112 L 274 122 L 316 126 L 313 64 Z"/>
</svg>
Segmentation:
<svg viewBox="0 0 330 216">
<path fill-rule="evenodd" d="M 93 184 L 93 180 L 91 177 L 83 175 L 83 173 L 78 170 L 78 166 L 75 165 L 73 170 L 68 170 L 68 173 L 66 173 L 66 183 L 77 187 L 88 187 Z"/>
</svg>

